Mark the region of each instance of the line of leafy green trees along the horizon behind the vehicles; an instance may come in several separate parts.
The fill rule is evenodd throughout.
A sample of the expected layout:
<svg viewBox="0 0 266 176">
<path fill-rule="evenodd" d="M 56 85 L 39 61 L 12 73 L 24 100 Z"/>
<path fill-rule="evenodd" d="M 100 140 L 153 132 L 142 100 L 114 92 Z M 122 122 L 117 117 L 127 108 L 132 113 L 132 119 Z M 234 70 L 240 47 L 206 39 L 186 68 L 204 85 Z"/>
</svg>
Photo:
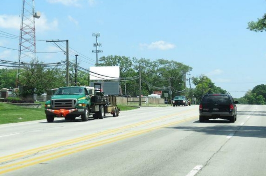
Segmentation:
<svg viewBox="0 0 266 176">
<path fill-rule="evenodd" d="M 74 63 L 74 62 L 73 62 Z M 206 93 L 228 93 L 215 84 L 205 75 L 189 77 L 192 67 L 183 63 L 167 59 L 151 61 L 146 58 L 132 58 L 125 56 L 103 56 L 98 66 L 119 66 L 120 85 L 123 94 L 139 95 L 139 75 L 141 75 L 142 95 L 152 94 L 153 91 L 168 93 L 168 99 L 176 95 L 186 95 L 190 100 L 200 101 Z M 0 88 L 15 88 L 17 68 L 0 69 Z M 70 65 L 70 86 L 89 85 L 89 68 L 78 70 L 77 78 L 75 64 Z M 190 83 L 190 85 L 188 85 Z M 47 67 L 46 64 L 32 60 L 23 66 L 20 71 L 19 85 L 23 87 L 23 97 L 41 95 L 49 89 L 66 86 L 65 66 Z M 266 85 L 258 85 L 240 99 L 246 104 L 263 104 L 266 99 Z"/>
</svg>

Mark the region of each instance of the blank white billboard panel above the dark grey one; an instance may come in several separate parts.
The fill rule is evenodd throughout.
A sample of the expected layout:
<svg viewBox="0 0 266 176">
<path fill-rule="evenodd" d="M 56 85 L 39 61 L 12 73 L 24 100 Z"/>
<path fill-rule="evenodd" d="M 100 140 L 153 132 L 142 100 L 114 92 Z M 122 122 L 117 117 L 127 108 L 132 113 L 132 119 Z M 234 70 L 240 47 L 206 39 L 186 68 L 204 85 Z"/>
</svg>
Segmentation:
<svg viewBox="0 0 266 176">
<path fill-rule="evenodd" d="M 90 80 L 119 80 L 118 66 L 90 67 Z"/>
</svg>

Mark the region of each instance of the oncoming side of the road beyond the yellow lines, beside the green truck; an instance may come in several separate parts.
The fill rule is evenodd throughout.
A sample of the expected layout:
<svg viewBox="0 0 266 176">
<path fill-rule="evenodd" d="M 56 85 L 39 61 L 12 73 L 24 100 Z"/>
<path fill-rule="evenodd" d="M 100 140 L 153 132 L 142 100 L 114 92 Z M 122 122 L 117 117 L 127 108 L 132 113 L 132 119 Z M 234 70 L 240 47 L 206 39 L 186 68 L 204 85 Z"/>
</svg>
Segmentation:
<svg viewBox="0 0 266 176">
<path fill-rule="evenodd" d="M 119 117 L 108 116 L 104 119 L 90 119 L 87 122 L 82 122 L 80 118 L 75 121 L 65 121 L 64 118 L 56 118 L 57 120 L 54 123 L 38 120 L 0 125 L 0 140 L 5 141 L 0 142 L 0 148 L 3 151 L 0 152 L 0 156 L 52 145 L 57 142 L 64 142 L 164 116 L 167 118 L 168 114 L 181 116 L 186 113 L 197 113 L 197 107 L 142 107 L 130 111 L 121 111 Z"/>
</svg>

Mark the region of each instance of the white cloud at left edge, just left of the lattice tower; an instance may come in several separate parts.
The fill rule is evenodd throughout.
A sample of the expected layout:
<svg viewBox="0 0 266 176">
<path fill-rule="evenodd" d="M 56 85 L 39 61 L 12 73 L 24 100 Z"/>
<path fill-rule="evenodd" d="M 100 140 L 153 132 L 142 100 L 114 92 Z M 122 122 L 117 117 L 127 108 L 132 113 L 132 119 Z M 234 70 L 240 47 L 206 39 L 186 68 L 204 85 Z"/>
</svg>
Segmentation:
<svg viewBox="0 0 266 176">
<path fill-rule="evenodd" d="M 20 29 L 21 18 L 14 15 L 0 15 L 0 28 Z"/>
</svg>

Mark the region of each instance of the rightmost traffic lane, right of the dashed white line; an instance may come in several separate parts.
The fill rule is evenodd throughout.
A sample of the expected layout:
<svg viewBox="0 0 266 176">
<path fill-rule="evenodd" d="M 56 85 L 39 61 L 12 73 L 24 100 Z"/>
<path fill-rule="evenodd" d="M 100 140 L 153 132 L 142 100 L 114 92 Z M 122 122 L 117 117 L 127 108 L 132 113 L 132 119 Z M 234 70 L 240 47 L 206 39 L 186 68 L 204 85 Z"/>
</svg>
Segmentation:
<svg viewBox="0 0 266 176">
<path fill-rule="evenodd" d="M 197 175 L 265 175 L 266 107 L 242 105 L 240 128 Z M 238 120 L 237 119 L 237 120 Z"/>
</svg>

